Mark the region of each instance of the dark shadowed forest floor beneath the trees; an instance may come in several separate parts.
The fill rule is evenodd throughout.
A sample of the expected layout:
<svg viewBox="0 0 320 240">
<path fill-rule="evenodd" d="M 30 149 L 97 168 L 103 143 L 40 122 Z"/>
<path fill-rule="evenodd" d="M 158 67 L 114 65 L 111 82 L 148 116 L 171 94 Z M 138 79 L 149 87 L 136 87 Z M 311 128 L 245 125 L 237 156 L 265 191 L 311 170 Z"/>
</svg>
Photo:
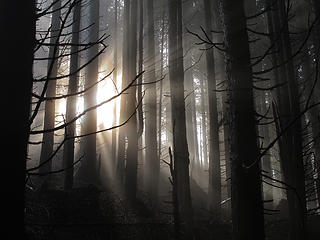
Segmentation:
<svg viewBox="0 0 320 240">
<path fill-rule="evenodd" d="M 204 210 L 205 193 L 192 183 L 196 239 L 231 239 L 231 223 L 211 222 Z M 140 193 L 134 205 L 128 205 L 117 194 L 94 186 L 61 190 L 32 191 L 26 194 L 25 226 L 28 239 L 174 239 L 170 199 L 162 199 L 155 216 L 148 199 Z M 310 240 L 320 239 L 320 218 L 314 217 Z M 287 222 L 281 219 L 266 221 L 266 239 L 284 240 Z"/>
</svg>

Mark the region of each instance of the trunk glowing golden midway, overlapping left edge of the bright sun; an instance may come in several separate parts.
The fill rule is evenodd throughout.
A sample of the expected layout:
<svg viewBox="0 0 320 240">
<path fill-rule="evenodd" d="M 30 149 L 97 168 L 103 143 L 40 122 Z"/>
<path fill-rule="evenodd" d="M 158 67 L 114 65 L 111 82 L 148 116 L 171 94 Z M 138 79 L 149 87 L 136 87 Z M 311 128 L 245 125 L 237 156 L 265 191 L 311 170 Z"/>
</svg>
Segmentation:
<svg viewBox="0 0 320 240">
<path fill-rule="evenodd" d="M 89 21 L 93 24 L 89 29 L 89 41 L 97 42 L 99 39 L 99 0 L 90 1 Z M 91 46 L 88 50 L 88 58 L 93 59 L 99 51 L 98 44 Z M 87 67 L 85 77 L 85 87 L 93 86 L 98 80 L 99 59 L 95 58 Z M 97 104 L 97 86 L 94 86 L 84 94 L 85 109 Z M 90 111 L 85 115 L 83 123 L 83 133 L 94 133 L 97 131 L 97 111 Z M 79 169 L 80 180 L 84 184 L 97 184 L 96 167 L 96 134 L 89 135 L 83 139 L 84 159 Z"/>
</svg>

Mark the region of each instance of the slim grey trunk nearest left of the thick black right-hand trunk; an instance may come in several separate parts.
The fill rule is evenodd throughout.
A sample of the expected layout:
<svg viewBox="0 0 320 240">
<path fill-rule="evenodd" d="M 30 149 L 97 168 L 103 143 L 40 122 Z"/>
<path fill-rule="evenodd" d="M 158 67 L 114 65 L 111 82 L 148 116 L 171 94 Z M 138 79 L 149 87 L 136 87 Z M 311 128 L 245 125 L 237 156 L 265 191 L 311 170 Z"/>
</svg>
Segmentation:
<svg viewBox="0 0 320 240">
<path fill-rule="evenodd" d="M 204 0 L 205 30 L 212 38 L 211 2 Z M 221 169 L 218 126 L 218 104 L 216 94 L 216 73 L 213 48 L 207 45 L 207 81 L 209 99 L 209 210 L 215 215 L 215 220 L 220 221 L 221 215 Z"/>
</svg>

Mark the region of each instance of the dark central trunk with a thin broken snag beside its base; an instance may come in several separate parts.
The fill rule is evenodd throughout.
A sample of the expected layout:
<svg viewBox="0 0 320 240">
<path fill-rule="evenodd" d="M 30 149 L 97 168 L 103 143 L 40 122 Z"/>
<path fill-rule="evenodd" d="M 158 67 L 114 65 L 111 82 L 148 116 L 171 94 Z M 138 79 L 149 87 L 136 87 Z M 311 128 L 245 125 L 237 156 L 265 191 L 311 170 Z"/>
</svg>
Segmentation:
<svg viewBox="0 0 320 240">
<path fill-rule="evenodd" d="M 193 239 L 193 213 L 189 179 L 189 152 L 184 103 L 184 69 L 182 49 L 182 3 L 169 3 L 169 78 L 173 128 L 174 167 L 182 239 Z"/>
</svg>

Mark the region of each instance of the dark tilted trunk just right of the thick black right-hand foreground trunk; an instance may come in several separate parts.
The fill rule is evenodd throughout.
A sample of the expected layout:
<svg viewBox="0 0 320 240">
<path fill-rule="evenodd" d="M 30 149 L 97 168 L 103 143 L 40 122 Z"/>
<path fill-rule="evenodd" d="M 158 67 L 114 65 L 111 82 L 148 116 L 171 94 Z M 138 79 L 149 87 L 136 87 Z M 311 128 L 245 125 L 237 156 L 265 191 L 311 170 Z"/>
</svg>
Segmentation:
<svg viewBox="0 0 320 240">
<path fill-rule="evenodd" d="M 267 5 L 272 1 L 266 1 Z M 285 86 L 276 90 L 276 102 L 278 107 L 279 121 L 278 133 L 280 133 L 300 112 L 299 93 L 297 79 L 295 77 L 294 66 L 291 53 L 291 42 L 289 38 L 288 18 L 286 6 L 283 0 L 276 4 L 276 11 L 269 13 L 268 25 L 271 34 L 271 42 L 275 42 L 277 55 L 273 56 L 274 64 L 288 63 L 275 71 L 276 83 L 280 79 L 286 83 Z M 276 37 L 280 33 L 280 39 Z M 306 201 L 304 164 L 302 153 L 301 118 L 297 118 L 288 131 L 283 134 L 279 142 L 281 167 L 284 181 L 288 186 L 287 200 L 289 207 L 289 225 L 291 239 L 304 239 L 306 233 Z"/>
</svg>

